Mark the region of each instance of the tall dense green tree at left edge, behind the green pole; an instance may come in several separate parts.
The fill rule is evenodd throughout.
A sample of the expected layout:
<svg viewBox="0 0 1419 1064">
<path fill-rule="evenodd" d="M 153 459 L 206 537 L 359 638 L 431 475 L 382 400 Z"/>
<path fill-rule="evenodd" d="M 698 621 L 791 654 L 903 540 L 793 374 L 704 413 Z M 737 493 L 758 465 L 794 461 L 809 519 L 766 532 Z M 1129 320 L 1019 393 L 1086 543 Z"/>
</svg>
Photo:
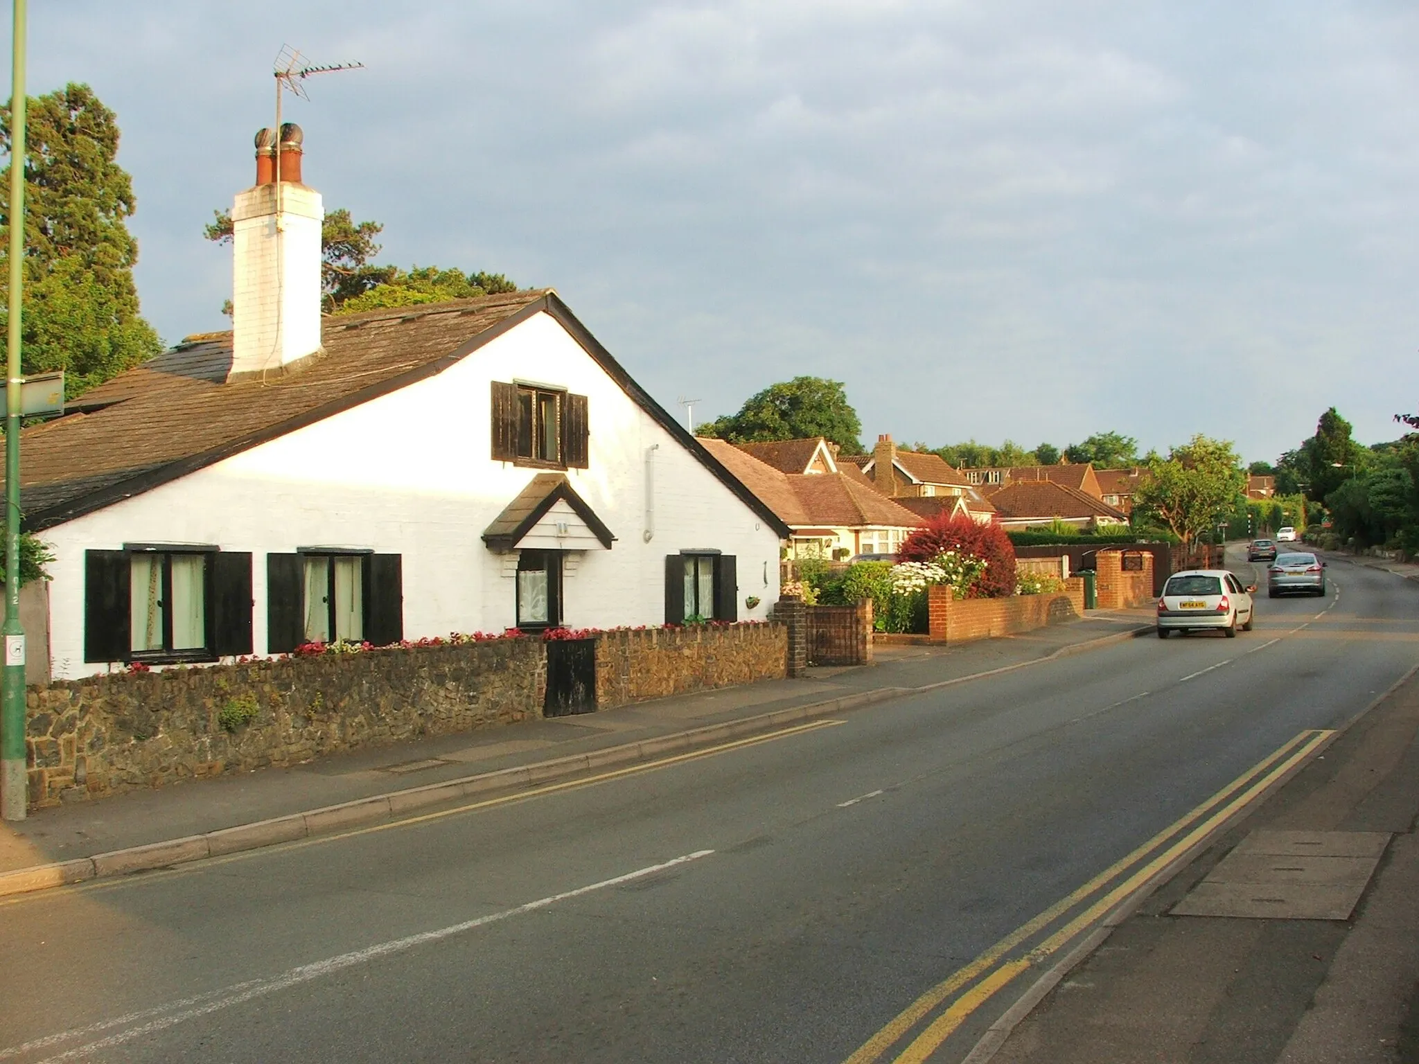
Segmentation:
<svg viewBox="0 0 1419 1064">
<path fill-rule="evenodd" d="M 128 231 L 133 183 L 116 162 L 118 116 L 88 85 L 27 104 L 23 367 L 65 370 L 77 396 L 162 350 L 139 314 Z M 10 150 L 10 108 L 0 111 Z M 13 159 L 10 160 L 13 165 Z M 0 174 L 0 260 L 10 247 L 10 167 Z M 9 261 L 0 262 L 0 349 L 4 343 Z"/>
</svg>

